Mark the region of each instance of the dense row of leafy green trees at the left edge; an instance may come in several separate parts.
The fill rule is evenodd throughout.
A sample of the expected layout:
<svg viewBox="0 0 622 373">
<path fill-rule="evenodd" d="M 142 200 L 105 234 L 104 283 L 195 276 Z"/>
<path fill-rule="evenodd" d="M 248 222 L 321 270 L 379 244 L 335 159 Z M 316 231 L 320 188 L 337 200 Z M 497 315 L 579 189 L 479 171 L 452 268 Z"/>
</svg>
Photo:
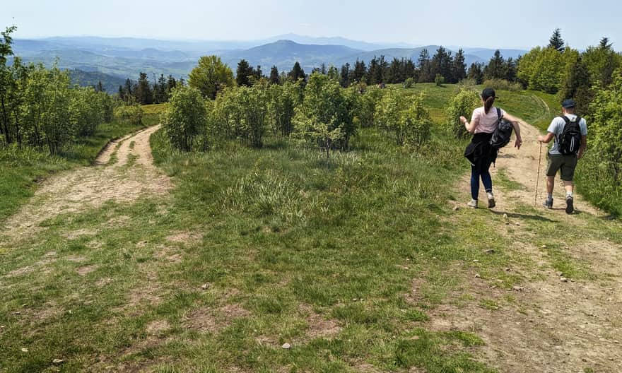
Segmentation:
<svg viewBox="0 0 622 373">
<path fill-rule="evenodd" d="M 110 122 L 113 99 L 93 88 L 72 86 L 69 71 L 56 64 L 23 64 L 13 56 L 11 33 L 0 32 L 0 146 L 30 146 L 57 154 L 76 138 L 91 136 Z"/>
</svg>

